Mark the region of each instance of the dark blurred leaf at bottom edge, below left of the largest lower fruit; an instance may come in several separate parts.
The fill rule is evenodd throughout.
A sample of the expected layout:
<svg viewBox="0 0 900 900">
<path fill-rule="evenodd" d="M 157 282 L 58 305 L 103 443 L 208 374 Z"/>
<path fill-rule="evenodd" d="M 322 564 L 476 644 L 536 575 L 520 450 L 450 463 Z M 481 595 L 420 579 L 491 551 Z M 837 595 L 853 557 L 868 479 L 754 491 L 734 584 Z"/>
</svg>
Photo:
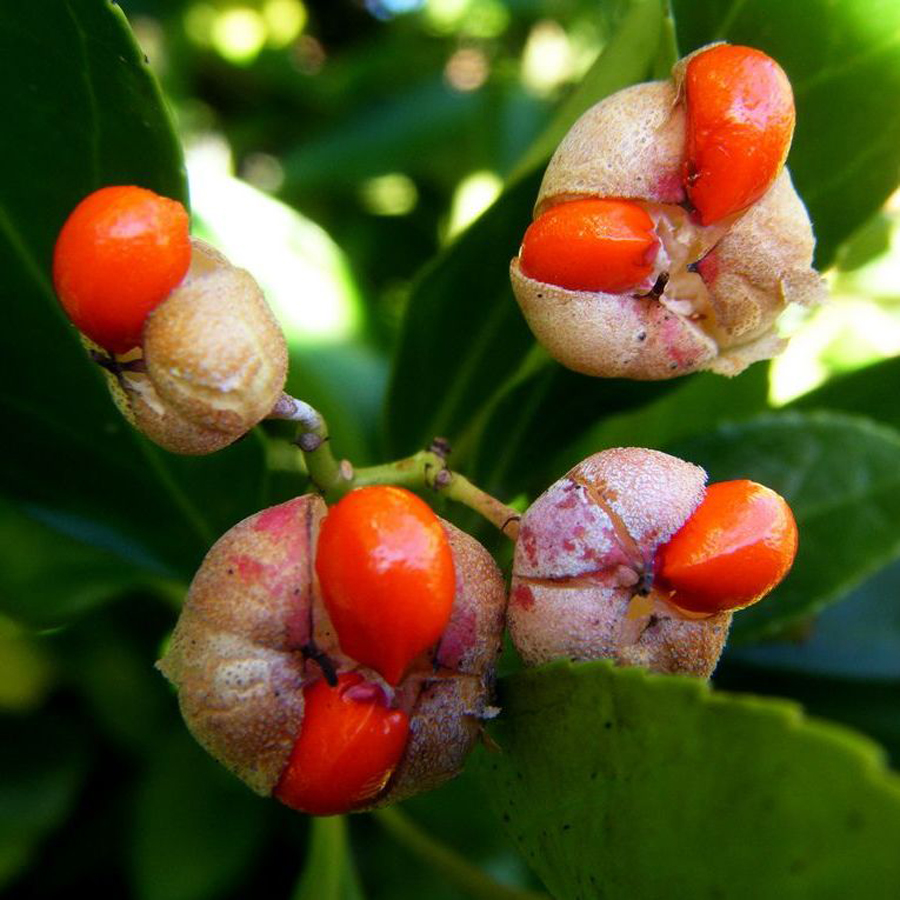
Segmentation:
<svg viewBox="0 0 900 900">
<path fill-rule="evenodd" d="M 233 889 L 263 846 L 266 812 L 179 727 L 160 741 L 139 787 L 135 896 L 205 900 Z"/>
</svg>

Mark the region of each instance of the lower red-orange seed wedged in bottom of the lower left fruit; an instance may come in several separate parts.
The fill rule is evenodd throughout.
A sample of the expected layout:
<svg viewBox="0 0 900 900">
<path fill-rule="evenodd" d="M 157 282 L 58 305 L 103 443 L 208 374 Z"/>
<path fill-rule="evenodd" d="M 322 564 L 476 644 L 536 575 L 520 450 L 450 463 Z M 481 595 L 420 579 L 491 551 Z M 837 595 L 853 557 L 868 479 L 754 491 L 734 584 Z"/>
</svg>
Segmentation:
<svg viewBox="0 0 900 900">
<path fill-rule="evenodd" d="M 300 734 L 274 796 L 315 816 L 374 800 L 406 748 L 406 713 L 388 708 L 381 690 L 355 672 L 341 675 L 336 687 L 314 682 L 303 700 Z"/>
</svg>

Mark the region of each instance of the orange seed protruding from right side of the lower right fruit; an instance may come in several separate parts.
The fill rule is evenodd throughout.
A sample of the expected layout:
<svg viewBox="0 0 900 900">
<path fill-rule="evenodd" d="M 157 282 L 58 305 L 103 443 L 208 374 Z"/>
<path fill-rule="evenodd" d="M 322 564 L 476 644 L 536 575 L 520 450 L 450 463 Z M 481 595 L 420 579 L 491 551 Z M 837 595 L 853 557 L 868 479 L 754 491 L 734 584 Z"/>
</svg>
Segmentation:
<svg viewBox="0 0 900 900">
<path fill-rule="evenodd" d="M 769 593 L 796 552 L 797 525 L 780 495 L 753 481 L 721 481 L 657 552 L 656 584 L 690 612 L 738 609 Z"/>
</svg>

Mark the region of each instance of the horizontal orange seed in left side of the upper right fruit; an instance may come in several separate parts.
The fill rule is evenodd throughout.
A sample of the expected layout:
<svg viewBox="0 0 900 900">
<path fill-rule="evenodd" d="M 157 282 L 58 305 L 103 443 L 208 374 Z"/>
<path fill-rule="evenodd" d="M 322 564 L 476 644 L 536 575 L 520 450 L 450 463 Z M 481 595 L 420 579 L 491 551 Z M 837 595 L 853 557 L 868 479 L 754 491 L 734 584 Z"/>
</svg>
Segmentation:
<svg viewBox="0 0 900 900">
<path fill-rule="evenodd" d="M 572 200 L 532 222 L 521 267 L 545 284 L 621 294 L 650 276 L 658 249 L 653 219 L 636 203 Z"/>
</svg>

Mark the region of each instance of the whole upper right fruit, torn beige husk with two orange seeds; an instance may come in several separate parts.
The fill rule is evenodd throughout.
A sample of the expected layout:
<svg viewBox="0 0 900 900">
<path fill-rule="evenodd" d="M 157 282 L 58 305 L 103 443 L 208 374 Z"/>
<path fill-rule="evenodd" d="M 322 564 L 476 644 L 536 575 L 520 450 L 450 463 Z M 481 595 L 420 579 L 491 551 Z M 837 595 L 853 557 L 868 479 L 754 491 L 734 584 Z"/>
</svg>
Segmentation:
<svg viewBox="0 0 900 900">
<path fill-rule="evenodd" d="M 538 340 L 578 372 L 636 379 L 736 375 L 777 354 L 779 314 L 823 292 L 784 168 L 793 130 L 778 64 L 728 44 L 588 110 L 511 264 Z"/>
</svg>

